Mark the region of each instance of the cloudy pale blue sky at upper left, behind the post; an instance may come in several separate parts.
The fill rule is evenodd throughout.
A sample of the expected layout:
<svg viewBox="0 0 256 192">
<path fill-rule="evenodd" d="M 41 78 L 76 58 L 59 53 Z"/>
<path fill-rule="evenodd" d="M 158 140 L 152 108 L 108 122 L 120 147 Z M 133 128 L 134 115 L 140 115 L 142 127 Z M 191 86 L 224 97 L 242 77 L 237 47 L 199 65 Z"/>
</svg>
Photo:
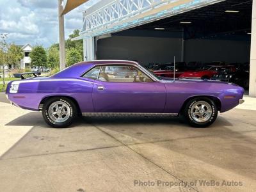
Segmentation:
<svg viewBox="0 0 256 192">
<path fill-rule="evenodd" d="M 65 37 L 82 28 L 82 13 L 100 0 L 90 0 L 65 15 Z M 58 42 L 58 0 L 0 0 L 0 34 L 17 45 Z"/>
</svg>

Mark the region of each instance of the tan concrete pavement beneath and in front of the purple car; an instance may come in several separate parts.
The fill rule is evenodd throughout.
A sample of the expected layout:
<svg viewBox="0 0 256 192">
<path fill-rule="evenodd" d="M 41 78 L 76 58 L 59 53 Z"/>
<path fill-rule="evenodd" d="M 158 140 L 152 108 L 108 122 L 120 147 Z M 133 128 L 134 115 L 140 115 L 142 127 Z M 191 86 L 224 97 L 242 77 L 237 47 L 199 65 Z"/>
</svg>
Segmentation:
<svg viewBox="0 0 256 192">
<path fill-rule="evenodd" d="M 0 93 L 0 191 L 255 191 L 256 100 L 245 100 L 206 129 L 159 117 L 52 129 Z"/>
</svg>

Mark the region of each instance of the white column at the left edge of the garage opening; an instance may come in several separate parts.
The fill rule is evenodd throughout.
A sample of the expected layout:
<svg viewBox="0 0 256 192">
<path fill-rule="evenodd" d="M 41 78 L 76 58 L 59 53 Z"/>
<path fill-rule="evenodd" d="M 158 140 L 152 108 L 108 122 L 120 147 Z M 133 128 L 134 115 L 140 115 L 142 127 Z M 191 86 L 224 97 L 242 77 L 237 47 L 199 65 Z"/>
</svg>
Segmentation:
<svg viewBox="0 0 256 192">
<path fill-rule="evenodd" d="M 95 38 L 84 38 L 83 39 L 84 48 L 84 61 L 95 60 Z"/>
</svg>

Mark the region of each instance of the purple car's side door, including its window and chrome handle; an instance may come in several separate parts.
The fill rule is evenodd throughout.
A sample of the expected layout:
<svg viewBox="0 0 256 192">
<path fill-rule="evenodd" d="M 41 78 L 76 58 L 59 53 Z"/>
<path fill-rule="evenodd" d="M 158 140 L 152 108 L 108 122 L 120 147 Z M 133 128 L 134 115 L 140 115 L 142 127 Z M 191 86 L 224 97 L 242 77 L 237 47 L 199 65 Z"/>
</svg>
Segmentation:
<svg viewBox="0 0 256 192">
<path fill-rule="evenodd" d="M 92 98 L 97 113 L 162 113 L 166 88 L 137 67 L 108 65 L 100 68 Z"/>
</svg>

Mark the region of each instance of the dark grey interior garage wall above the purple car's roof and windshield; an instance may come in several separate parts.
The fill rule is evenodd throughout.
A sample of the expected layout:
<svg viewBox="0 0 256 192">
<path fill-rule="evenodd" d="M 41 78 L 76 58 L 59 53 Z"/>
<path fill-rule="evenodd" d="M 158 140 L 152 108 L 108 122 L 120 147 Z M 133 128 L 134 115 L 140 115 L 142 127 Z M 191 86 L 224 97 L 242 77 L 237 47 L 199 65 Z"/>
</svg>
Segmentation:
<svg viewBox="0 0 256 192">
<path fill-rule="evenodd" d="M 172 62 L 173 56 L 177 60 L 181 57 L 181 38 L 177 34 L 159 36 L 159 33 L 138 36 L 115 35 L 98 40 L 97 59 L 99 60 L 138 60 L 142 65 L 152 62 Z M 146 31 L 147 32 L 147 31 Z M 144 35 L 145 31 L 144 31 Z"/>
</svg>

